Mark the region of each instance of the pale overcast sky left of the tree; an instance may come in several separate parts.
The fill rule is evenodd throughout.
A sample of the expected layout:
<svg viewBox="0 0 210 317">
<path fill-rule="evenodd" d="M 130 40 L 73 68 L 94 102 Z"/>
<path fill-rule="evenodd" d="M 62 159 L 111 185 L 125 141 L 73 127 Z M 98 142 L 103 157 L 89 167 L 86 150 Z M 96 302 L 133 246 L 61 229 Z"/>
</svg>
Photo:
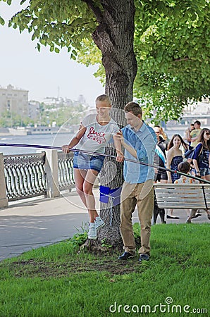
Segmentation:
<svg viewBox="0 0 210 317">
<path fill-rule="evenodd" d="M 6 20 L 0 25 L 0 86 L 11 84 L 29 91 L 29 99 L 42 101 L 44 97 L 67 97 L 78 99 L 82 94 L 90 106 L 99 94 L 104 93 L 99 80 L 93 73 L 96 66 L 87 68 L 70 60 L 66 49 L 60 54 L 41 46 L 35 48 L 32 34 L 8 27 L 8 18 L 20 11 L 20 0 L 13 0 L 11 6 L 0 1 L 0 15 Z"/>
</svg>

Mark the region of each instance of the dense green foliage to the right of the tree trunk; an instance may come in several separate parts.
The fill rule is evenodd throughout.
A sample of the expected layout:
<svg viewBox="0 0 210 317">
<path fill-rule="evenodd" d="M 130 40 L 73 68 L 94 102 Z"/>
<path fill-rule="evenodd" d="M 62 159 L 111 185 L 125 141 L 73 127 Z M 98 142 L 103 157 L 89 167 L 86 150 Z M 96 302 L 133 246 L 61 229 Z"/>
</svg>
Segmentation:
<svg viewBox="0 0 210 317">
<path fill-rule="evenodd" d="M 209 95 L 209 1 L 141 1 L 136 11 L 134 94 L 155 121 L 180 118 Z"/>
</svg>

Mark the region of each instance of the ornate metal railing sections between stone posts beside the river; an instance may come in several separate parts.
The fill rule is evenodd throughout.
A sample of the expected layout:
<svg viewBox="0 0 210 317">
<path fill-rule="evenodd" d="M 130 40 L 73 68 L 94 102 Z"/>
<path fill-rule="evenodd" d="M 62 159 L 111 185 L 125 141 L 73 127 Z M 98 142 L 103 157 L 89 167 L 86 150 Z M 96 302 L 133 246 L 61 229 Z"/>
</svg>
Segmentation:
<svg viewBox="0 0 210 317">
<path fill-rule="evenodd" d="M 56 161 L 59 191 L 75 187 L 73 178 L 73 153 L 57 152 Z M 47 196 L 48 176 L 46 153 L 4 156 L 6 198 L 8 201 L 44 195 Z"/>
</svg>

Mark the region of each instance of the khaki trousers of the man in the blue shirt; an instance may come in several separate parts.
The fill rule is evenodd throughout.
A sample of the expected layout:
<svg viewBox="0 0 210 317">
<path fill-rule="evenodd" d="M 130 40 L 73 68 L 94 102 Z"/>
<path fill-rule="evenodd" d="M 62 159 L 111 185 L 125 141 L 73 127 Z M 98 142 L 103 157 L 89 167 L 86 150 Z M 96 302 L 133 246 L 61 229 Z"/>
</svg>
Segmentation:
<svg viewBox="0 0 210 317">
<path fill-rule="evenodd" d="M 138 216 L 141 225 L 140 254 L 150 252 L 151 220 L 154 208 L 153 180 L 142 184 L 124 182 L 121 192 L 121 235 L 125 251 L 135 253 L 135 239 L 132 230 L 132 213 L 137 204 Z"/>
</svg>

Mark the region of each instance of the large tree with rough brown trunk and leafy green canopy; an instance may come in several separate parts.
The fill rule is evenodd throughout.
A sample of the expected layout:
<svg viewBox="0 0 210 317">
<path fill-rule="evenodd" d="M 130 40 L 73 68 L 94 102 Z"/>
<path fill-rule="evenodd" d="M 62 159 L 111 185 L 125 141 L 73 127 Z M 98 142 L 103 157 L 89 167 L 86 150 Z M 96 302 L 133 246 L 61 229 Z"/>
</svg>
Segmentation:
<svg viewBox="0 0 210 317">
<path fill-rule="evenodd" d="M 11 0 L 7 3 L 11 4 Z M 178 118 L 187 97 L 207 94 L 209 70 L 202 61 L 209 63 L 205 46 L 209 46 L 208 17 L 208 0 L 30 0 L 9 25 L 19 27 L 20 32 L 32 32 L 32 39 L 38 41 L 37 49 L 49 45 L 50 51 L 58 53 L 67 47 L 73 59 L 80 51 L 90 54 L 94 43 L 104 66 L 105 92 L 114 107 L 123 109 L 132 100 L 137 75 L 135 95 L 147 105 L 145 110 L 151 112 L 152 105 L 166 118 Z M 0 23 L 4 21 L 0 19 Z M 201 47 L 204 32 L 206 42 Z M 197 49 L 192 50 L 194 46 Z M 91 63 L 94 58 L 98 61 L 97 54 Z M 84 61 L 87 59 L 84 57 Z M 201 67 L 203 79 L 197 78 Z M 123 125 L 121 114 L 114 111 L 113 118 Z M 102 185 L 120 187 L 122 169 L 111 161 L 104 166 Z M 119 213 L 119 206 L 101 204 L 107 225 L 101 230 L 100 240 L 105 237 L 111 244 L 120 240 Z"/>
</svg>

